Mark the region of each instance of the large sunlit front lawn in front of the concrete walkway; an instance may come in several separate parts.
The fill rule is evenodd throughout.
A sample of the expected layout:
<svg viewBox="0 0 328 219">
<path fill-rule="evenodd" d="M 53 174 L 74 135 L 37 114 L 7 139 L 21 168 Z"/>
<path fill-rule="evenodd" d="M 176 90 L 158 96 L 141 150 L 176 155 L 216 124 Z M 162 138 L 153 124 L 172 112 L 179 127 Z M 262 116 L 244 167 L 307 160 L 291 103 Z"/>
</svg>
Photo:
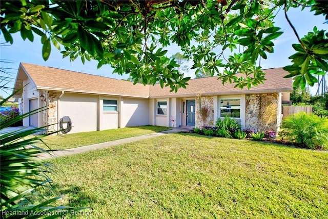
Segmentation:
<svg viewBox="0 0 328 219">
<path fill-rule="evenodd" d="M 328 217 L 327 152 L 175 133 L 50 161 L 73 218 Z"/>
</svg>

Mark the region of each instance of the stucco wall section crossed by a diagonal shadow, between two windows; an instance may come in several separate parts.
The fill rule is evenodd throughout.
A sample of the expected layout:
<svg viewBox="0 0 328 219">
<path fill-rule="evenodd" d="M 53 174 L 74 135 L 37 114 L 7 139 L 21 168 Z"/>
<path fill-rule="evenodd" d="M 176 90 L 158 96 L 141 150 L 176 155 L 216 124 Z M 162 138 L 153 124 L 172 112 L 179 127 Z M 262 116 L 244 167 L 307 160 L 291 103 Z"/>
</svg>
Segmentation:
<svg viewBox="0 0 328 219">
<path fill-rule="evenodd" d="M 120 128 L 149 125 L 149 99 L 121 98 Z"/>
</svg>

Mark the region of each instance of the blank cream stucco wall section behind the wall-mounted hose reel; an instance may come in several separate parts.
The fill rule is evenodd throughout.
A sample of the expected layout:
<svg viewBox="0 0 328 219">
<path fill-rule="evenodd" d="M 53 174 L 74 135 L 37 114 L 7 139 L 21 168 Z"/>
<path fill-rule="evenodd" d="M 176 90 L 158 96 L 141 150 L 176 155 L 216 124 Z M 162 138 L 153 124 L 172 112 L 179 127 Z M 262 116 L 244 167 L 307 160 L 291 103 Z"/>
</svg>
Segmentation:
<svg viewBox="0 0 328 219">
<path fill-rule="evenodd" d="M 58 101 L 58 120 L 70 117 L 72 130 L 69 133 L 96 131 L 97 101 L 97 95 L 65 93 Z"/>
</svg>

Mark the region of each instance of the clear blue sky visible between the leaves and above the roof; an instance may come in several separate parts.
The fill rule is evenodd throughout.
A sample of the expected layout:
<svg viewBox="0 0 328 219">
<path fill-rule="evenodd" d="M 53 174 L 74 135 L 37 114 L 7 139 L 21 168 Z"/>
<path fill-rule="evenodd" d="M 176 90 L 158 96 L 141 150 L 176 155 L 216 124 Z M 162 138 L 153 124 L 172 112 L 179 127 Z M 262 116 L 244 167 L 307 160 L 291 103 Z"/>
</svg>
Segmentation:
<svg viewBox="0 0 328 219">
<path fill-rule="evenodd" d="M 319 30 L 326 29 L 327 27 L 327 24 L 323 24 L 325 22 L 324 16 L 315 16 L 313 15 L 313 12 L 309 11 L 309 9 L 305 9 L 304 11 L 301 11 L 300 8 L 291 9 L 288 14 L 300 37 L 303 37 L 306 33 L 312 31 L 314 26 L 317 26 Z M 261 60 L 261 66 L 263 69 L 290 65 L 288 57 L 294 53 L 292 44 L 298 43 L 292 29 L 286 22 L 283 10 L 280 10 L 275 18 L 275 24 L 276 26 L 281 27 L 281 31 L 284 33 L 274 41 L 274 53 L 268 54 L 268 59 Z M 127 74 L 112 74 L 113 69 L 109 65 L 97 69 L 97 62 L 95 61 L 86 61 L 85 65 L 83 65 L 80 58 L 77 58 L 74 62 L 70 62 L 68 57 L 62 58 L 60 51 L 54 47 L 52 47 L 48 61 L 45 62 L 42 58 L 42 44 L 40 43 L 40 39 L 35 37 L 33 43 L 28 41 L 28 39 L 23 41 L 19 33 L 13 34 L 13 38 L 13 45 L 0 47 L 0 58 L 12 62 L 9 65 L 2 64 L 2 67 L 13 68 L 11 70 L 12 77 L 16 76 L 19 62 L 85 72 L 118 79 L 126 79 L 129 76 Z M 0 42 L 4 43 L 2 35 L 0 35 Z M 178 51 L 179 49 L 177 46 L 172 45 L 168 48 L 167 54 L 171 56 Z M 194 71 L 190 71 L 186 76 L 194 78 Z M 6 94 L 1 91 L 0 95 L 5 96 Z"/>
</svg>

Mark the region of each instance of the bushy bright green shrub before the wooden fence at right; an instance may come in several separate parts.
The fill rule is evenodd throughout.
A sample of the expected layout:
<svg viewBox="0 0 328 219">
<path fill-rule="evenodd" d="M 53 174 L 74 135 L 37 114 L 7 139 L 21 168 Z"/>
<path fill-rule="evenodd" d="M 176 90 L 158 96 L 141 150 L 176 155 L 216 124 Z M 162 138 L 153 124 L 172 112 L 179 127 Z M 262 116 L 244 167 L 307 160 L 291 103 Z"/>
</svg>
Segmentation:
<svg viewBox="0 0 328 219">
<path fill-rule="evenodd" d="M 328 149 L 328 118 L 299 112 L 286 117 L 281 128 L 288 140 L 302 147 Z"/>
</svg>

